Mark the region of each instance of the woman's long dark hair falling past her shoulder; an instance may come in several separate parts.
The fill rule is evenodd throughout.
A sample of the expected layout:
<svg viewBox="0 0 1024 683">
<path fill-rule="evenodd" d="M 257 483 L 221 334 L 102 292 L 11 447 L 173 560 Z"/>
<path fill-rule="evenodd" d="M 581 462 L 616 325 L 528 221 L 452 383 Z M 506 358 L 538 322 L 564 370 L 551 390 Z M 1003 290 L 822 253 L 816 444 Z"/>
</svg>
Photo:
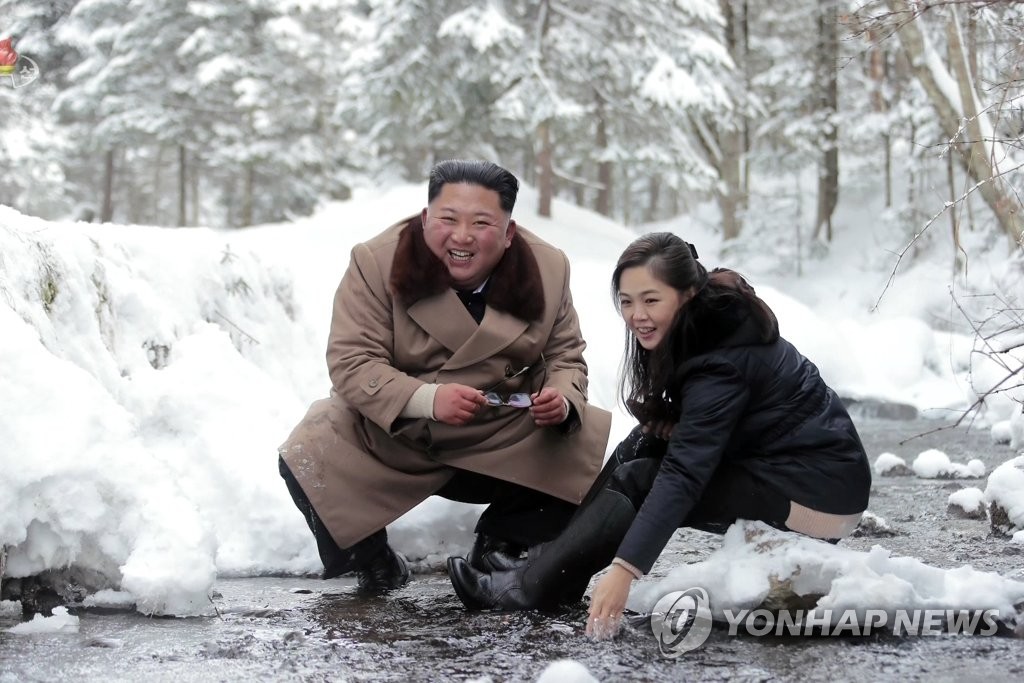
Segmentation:
<svg viewBox="0 0 1024 683">
<path fill-rule="evenodd" d="M 679 387 L 676 369 L 710 340 L 720 339 L 723 330 L 700 329 L 696 322 L 714 319 L 706 313 L 738 309 L 750 311 L 764 341 L 778 331 L 771 308 L 754 292 L 738 272 L 716 268 L 711 272 L 697 261 L 693 245 L 672 232 L 650 232 L 635 240 L 618 257 L 611 275 L 611 289 L 618 305 L 620 282 L 628 268 L 647 267 L 651 274 L 680 294 L 693 292 L 676 313 L 669 333 L 648 351 L 626 330 L 626 350 L 618 391 L 623 403 L 642 424 L 679 419 Z M 738 304 L 738 306 L 737 306 Z"/>
</svg>

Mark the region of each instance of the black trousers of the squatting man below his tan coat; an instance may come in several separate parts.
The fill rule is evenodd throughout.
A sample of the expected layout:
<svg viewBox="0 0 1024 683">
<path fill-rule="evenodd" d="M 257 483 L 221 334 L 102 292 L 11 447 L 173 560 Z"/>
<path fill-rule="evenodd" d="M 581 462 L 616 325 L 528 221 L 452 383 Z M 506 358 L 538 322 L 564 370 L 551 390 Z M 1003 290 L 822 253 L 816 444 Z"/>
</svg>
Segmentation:
<svg viewBox="0 0 1024 683">
<path fill-rule="evenodd" d="M 316 540 L 324 563 L 324 579 L 357 570 L 387 546 L 387 529 L 382 528 L 350 548 L 340 548 L 280 457 L 278 469 Z M 435 495 L 460 503 L 488 504 L 476 523 L 476 532 L 523 547 L 554 539 L 565 528 L 577 509 L 571 503 L 539 490 L 465 470 L 458 470 Z"/>
</svg>

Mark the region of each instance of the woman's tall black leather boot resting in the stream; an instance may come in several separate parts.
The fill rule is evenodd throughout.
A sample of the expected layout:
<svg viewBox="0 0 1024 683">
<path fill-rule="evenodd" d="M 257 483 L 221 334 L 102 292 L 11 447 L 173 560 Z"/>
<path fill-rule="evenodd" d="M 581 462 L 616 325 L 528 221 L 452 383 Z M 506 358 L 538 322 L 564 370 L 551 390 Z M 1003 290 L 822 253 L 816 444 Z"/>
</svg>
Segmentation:
<svg viewBox="0 0 1024 683">
<path fill-rule="evenodd" d="M 450 557 L 449 578 L 468 609 L 550 609 L 573 602 L 614 558 L 635 516 L 629 498 L 605 488 L 557 539 L 531 550 L 516 569 L 488 574 Z"/>
</svg>

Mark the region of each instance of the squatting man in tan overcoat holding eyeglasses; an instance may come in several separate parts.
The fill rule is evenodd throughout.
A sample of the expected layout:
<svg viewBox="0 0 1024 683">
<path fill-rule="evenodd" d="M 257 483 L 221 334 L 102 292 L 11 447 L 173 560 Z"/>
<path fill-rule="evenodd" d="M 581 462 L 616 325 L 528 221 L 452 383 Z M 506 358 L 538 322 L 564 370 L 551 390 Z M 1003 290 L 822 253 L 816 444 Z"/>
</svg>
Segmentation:
<svg viewBox="0 0 1024 683">
<path fill-rule="evenodd" d="M 352 249 L 333 390 L 280 449 L 326 579 L 403 585 L 385 527 L 432 495 L 489 503 L 470 562 L 507 568 L 601 468 L 611 416 L 587 402 L 568 261 L 512 220 L 517 191 L 494 164 L 441 162 L 420 215 Z"/>
</svg>

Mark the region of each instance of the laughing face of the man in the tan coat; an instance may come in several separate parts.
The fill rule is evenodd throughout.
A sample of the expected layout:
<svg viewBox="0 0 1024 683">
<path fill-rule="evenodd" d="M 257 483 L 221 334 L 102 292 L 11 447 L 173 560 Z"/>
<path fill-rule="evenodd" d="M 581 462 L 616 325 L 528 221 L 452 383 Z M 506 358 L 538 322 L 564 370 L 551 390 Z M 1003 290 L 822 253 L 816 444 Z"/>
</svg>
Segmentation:
<svg viewBox="0 0 1024 683">
<path fill-rule="evenodd" d="M 515 221 L 493 189 L 447 183 L 423 210 L 423 237 L 460 290 L 474 290 L 490 276 L 512 244 Z"/>
</svg>

